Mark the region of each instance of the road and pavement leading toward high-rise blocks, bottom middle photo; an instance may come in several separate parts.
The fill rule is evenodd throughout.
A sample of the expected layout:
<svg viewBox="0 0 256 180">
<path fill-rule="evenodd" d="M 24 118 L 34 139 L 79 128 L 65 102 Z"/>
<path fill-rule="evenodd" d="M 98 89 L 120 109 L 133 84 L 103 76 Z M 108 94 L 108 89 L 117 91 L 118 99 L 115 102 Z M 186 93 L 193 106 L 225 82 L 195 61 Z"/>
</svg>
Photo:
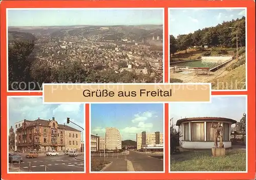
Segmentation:
<svg viewBox="0 0 256 180">
<path fill-rule="evenodd" d="M 94 156 L 92 158 L 104 160 L 104 157 Z M 163 156 L 148 156 L 139 152 L 130 151 L 126 156 L 105 157 L 105 161 L 111 161 L 103 171 L 163 171 Z"/>
</svg>

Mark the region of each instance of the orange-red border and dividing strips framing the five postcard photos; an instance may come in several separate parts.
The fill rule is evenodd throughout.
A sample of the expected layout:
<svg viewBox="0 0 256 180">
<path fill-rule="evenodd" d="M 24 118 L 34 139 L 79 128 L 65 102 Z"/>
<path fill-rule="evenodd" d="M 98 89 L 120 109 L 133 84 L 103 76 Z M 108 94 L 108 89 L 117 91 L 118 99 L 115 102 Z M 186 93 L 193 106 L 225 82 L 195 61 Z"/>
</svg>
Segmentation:
<svg viewBox="0 0 256 180">
<path fill-rule="evenodd" d="M 168 82 L 168 8 L 246 7 L 247 8 L 247 91 L 213 91 L 212 95 L 248 95 L 247 173 L 168 173 L 169 152 L 165 151 L 165 173 L 89 173 L 89 104 L 86 105 L 86 173 L 7 174 L 7 96 L 42 95 L 41 92 L 7 92 L 6 8 L 165 8 L 164 80 Z M 2 1 L 1 2 L 1 160 L 3 179 L 254 179 L 255 178 L 255 3 L 253 1 Z M 250 75 L 249 75 L 250 74 Z M 253 75 L 252 75 L 253 74 Z M 168 149 L 168 104 L 165 104 L 165 148 Z"/>
</svg>

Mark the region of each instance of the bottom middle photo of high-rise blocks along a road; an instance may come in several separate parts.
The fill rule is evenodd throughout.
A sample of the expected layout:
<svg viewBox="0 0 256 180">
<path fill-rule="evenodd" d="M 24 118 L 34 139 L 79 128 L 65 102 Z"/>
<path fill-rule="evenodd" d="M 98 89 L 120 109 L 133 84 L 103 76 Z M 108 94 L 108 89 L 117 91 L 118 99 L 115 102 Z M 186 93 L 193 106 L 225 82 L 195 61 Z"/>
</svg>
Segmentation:
<svg viewBox="0 0 256 180">
<path fill-rule="evenodd" d="M 91 172 L 163 172 L 163 105 L 91 105 L 90 147 Z"/>
</svg>

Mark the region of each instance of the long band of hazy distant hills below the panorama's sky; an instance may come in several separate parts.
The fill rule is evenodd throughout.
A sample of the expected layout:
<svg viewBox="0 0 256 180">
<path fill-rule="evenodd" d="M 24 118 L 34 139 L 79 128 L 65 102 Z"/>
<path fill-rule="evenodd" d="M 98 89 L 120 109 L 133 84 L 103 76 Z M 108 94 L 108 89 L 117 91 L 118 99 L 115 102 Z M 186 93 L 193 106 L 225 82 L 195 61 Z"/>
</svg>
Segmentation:
<svg viewBox="0 0 256 180">
<path fill-rule="evenodd" d="M 50 34 L 52 37 L 99 35 L 104 40 L 122 38 L 152 39 L 152 36 L 163 37 L 163 25 L 81 25 L 63 27 L 9 27 L 9 31 Z"/>
</svg>

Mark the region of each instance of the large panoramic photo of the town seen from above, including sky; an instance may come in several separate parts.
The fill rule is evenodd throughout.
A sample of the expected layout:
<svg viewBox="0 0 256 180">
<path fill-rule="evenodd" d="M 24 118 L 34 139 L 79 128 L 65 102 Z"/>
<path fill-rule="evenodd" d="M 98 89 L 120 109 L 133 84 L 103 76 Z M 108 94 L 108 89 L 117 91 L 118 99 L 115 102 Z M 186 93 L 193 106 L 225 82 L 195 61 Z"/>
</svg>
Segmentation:
<svg viewBox="0 0 256 180">
<path fill-rule="evenodd" d="M 162 83 L 162 9 L 9 9 L 8 90 Z"/>
</svg>

